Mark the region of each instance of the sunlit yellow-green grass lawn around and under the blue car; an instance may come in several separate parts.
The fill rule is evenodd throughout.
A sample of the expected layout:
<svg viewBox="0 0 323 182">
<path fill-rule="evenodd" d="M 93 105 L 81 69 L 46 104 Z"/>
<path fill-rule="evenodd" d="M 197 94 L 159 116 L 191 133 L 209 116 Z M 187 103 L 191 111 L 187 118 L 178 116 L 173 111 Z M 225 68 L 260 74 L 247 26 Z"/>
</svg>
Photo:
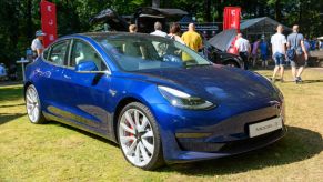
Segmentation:
<svg viewBox="0 0 323 182">
<path fill-rule="evenodd" d="M 270 77 L 272 71 L 259 71 Z M 277 82 L 286 102 L 287 134 L 264 149 L 148 172 L 119 148 L 58 122 L 31 124 L 22 85 L 0 87 L 0 181 L 323 181 L 323 70 L 305 82 Z"/>
</svg>

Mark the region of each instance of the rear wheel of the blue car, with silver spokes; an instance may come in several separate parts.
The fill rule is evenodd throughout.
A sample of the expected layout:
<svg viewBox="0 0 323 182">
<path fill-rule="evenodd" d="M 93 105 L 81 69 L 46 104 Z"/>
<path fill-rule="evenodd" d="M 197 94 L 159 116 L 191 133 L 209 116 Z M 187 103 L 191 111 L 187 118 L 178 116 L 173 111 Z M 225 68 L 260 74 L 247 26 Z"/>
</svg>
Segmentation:
<svg viewBox="0 0 323 182">
<path fill-rule="evenodd" d="M 41 112 L 41 103 L 38 97 L 38 92 L 34 85 L 30 84 L 26 92 L 26 110 L 29 118 L 29 121 L 33 124 L 43 124 L 47 122 L 46 118 Z"/>
</svg>

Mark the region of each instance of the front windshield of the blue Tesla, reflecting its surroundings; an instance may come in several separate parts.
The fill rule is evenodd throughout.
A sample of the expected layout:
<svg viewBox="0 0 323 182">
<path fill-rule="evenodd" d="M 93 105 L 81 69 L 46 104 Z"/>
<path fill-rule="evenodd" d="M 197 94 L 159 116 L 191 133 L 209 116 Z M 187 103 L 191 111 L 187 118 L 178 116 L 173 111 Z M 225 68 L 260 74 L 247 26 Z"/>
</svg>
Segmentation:
<svg viewBox="0 0 323 182">
<path fill-rule="evenodd" d="M 127 34 L 94 39 L 125 71 L 212 64 L 193 50 L 171 39 Z"/>
</svg>

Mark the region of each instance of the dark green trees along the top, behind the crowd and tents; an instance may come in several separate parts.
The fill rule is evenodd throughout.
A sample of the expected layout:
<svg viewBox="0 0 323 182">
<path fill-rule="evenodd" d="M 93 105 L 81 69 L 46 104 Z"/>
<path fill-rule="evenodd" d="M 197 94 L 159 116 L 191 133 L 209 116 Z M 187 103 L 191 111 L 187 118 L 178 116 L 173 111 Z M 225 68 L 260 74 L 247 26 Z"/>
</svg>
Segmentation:
<svg viewBox="0 0 323 182">
<path fill-rule="evenodd" d="M 89 20 L 107 8 L 131 16 L 152 0 L 51 0 L 58 10 L 58 34 L 92 30 Z M 242 18 L 271 17 L 289 27 L 301 26 L 306 37 L 323 36 L 322 0 L 160 0 L 162 8 L 180 8 L 198 21 L 222 21 L 223 8 L 240 6 Z M 24 55 L 34 31 L 41 28 L 40 0 L 0 1 L 0 62 L 7 65 Z M 208 6 L 209 4 L 209 6 Z M 302 29 L 303 28 L 303 29 Z"/>
</svg>

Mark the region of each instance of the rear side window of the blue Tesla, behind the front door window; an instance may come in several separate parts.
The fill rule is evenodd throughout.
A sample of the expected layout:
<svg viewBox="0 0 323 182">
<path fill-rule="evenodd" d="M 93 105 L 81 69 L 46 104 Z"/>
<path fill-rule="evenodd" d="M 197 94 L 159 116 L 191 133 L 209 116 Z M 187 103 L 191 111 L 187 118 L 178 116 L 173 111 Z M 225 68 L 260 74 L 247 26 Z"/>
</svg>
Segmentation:
<svg viewBox="0 0 323 182">
<path fill-rule="evenodd" d="M 48 61 L 58 65 L 64 65 L 69 42 L 62 41 L 52 46 Z"/>
</svg>

